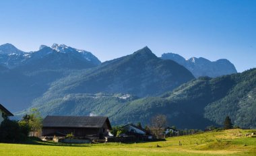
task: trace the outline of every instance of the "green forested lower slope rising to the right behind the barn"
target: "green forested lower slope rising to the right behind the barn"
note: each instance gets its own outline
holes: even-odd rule
[[[152,116],[165,114],[169,125],[201,129],[220,126],[230,116],[236,126],[256,128],[256,69],[217,78],[200,77],[157,97],[66,93],[46,100],[49,94],[44,95],[32,106],[44,116],[108,116],[112,124],[118,125],[150,124]]]

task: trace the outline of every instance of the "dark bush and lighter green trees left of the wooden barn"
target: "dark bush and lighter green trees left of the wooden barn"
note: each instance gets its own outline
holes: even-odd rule
[[[22,120],[15,121],[6,118],[0,125],[0,142],[17,143],[24,141],[35,132],[40,132],[42,118],[36,109],[30,110],[30,114],[22,117]]]

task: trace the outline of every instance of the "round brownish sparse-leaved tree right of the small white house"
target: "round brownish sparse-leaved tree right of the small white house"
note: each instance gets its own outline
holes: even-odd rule
[[[156,135],[156,138],[160,138],[161,134],[164,132],[164,126],[166,126],[167,120],[166,116],[163,114],[158,114],[151,119],[151,132]]]

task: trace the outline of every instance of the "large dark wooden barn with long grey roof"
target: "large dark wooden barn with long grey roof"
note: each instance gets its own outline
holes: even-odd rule
[[[65,137],[103,139],[111,129],[106,116],[46,116],[42,121],[43,137]]]

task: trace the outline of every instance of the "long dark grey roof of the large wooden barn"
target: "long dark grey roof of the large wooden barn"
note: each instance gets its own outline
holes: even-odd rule
[[[46,116],[43,127],[102,128],[104,123],[111,129],[106,116]]]

